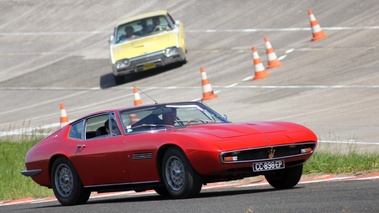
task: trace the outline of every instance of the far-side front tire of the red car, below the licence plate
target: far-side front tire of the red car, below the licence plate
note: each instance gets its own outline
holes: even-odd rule
[[[296,186],[303,173],[303,165],[286,168],[265,175],[267,182],[275,189],[290,189]]]

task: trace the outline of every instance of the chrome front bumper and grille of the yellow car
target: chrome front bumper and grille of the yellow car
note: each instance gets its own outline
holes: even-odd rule
[[[160,50],[129,59],[129,66],[125,68],[118,68],[116,64],[112,64],[112,71],[115,76],[121,76],[146,71],[156,67],[163,67],[177,62],[184,62],[185,60],[186,55],[182,48],[178,48],[178,52],[170,56],[165,54],[165,50]]]

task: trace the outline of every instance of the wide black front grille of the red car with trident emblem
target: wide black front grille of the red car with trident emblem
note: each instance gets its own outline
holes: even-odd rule
[[[221,153],[221,162],[223,163],[242,163],[263,160],[274,160],[287,157],[296,157],[306,155],[309,153],[301,153],[301,149],[311,148],[314,150],[316,143],[296,143],[280,146],[260,147],[254,149],[234,150],[230,152]],[[313,151],[312,151],[313,152]],[[225,157],[237,157],[238,160],[232,162],[225,162]]]

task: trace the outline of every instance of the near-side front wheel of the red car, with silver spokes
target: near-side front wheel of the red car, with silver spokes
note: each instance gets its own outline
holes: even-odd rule
[[[198,195],[203,184],[202,177],[192,168],[184,153],[175,147],[164,154],[162,179],[168,194],[174,199]]]

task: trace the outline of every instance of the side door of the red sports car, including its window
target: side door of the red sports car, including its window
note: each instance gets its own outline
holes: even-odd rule
[[[84,186],[128,182],[124,136],[119,126],[114,113],[94,115],[78,123],[82,136],[75,140],[72,162]]]

